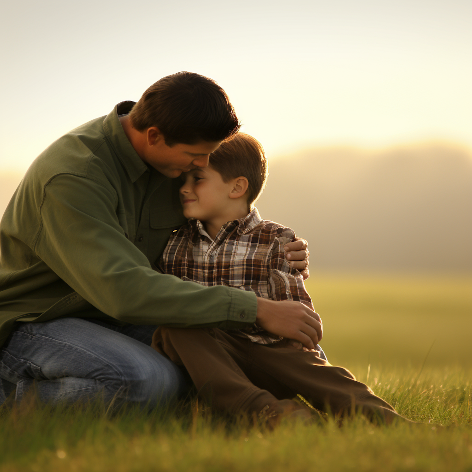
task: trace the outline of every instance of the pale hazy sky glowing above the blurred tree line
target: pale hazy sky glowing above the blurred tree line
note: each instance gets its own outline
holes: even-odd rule
[[[0,171],[190,70],[270,155],[440,139],[472,146],[470,0],[11,1]]]

